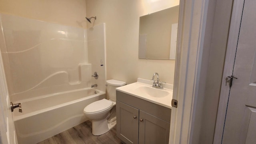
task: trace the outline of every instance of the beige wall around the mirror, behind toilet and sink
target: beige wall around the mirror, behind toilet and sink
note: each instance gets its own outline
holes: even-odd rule
[[[178,4],[170,0],[86,0],[87,16],[97,16],[94,25],[106,23],[107,79],[130,84],[137,78],[151,79],[158,72],[161,81],[173,84],[175,60],[138,59],[139,18]]]

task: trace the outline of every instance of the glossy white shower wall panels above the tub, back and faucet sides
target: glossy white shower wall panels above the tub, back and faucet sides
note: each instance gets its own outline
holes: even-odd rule
[[[86,88],[96,81],[105,90],[104,24],[87,34],[86,29],[19,16],[1,18],[1,51],[12,101]],[[91,78],[94,71],[98,80]]]

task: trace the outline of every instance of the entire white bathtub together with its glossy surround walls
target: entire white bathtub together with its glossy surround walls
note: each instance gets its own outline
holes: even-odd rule
[[[23,110],[13,113],[19,144],[40,142],[88,120],[82,109],[106,98],[105,24],[87,30],[9,14],[0,17],[8,91]],[[92,84],[98,85],[97,94],[84,90]],[[76,90],[82,91],[80,98]]]

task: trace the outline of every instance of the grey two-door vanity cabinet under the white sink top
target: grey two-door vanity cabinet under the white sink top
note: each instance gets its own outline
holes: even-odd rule
[[[116,134],[126,144],[168,144],[171,109],[116,91]]]

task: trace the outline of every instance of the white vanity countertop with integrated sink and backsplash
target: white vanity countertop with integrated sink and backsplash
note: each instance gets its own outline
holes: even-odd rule
[[[153,81],[151,80],[145,80],[142,78],[138,78],[137,82],[134,82],[132,84],[128,84],[125,86],[121,86],[116,88],[116,90],[120,92],[124,92],[126,94],[130,94],[132,96],[135,96],[137,98],[141,98],[143,100],[147,100],[149,102],[167,107],[172,108],[172,93],[173,93],[173,85],[172,84],[163,84],[164,89],[160,90],[157,88],[152,88]],[[139,88],[152,88],[154,92],[156,92],[155,96],[150,96],[152,94],[147,94],[147,92],[143,92],[141,90],[138,90]],[[163,97],[161,95],[158,96],[158,94],[166,94]]]

